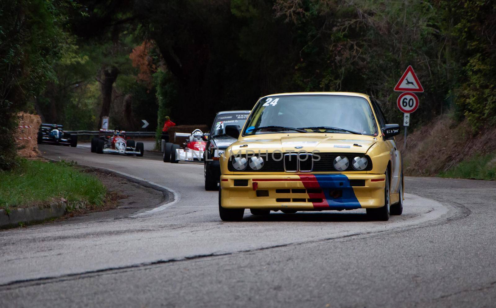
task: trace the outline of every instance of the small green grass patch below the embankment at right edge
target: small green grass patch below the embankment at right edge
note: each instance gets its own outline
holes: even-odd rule
[[[475,155],[440,172],[439,177],[474,180],[496,180],[496,154]]]

